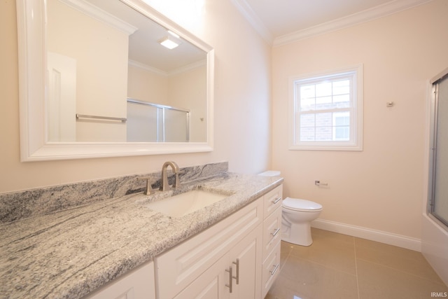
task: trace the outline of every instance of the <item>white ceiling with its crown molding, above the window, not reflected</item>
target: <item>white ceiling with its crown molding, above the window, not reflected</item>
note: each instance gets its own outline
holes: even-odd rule
[[[381,18],[430,0],[232,0],[274,46]]]

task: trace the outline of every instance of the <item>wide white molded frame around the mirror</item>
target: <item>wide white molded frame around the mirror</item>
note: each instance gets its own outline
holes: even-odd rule
[[[213,151],[214,49],[140,0],[120,0],[207,52],[207,142],[48,142],[45,0],[18,0],[20,160],[68,160]]]

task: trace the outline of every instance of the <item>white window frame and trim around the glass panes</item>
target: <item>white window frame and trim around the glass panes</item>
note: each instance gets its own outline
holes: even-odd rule
[[[350,139],[348,141],[300,141],[300,99],[297,97],[297,86],[304,83],[331,81],[349,76],[351,79]],[[333,69],[315,74],[304,74],[289,78],[289,149],[314,151],[363,151],[363,64],[342,69]],[[330,111],[330,110],[329,110]],[[338,109],[331,109],[337,112]],[[316,110],[316,113],[322,111]]]

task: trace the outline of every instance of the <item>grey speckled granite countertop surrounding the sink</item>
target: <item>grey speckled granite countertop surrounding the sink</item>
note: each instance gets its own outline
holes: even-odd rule
[[[180,218],[146,205],[178,190],[135,193],[0,225],[0,298],[81,298],[153,260],[282,183],[225,173],[181,186],[229,195]]]

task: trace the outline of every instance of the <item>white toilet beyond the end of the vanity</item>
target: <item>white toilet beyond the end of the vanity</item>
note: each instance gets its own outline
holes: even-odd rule
[[[269,170],[260,175],[279,176],[280,172]],[[321,211],[321,204],[286,197],[281,203],[281,239],[301,246],[311,245],[311,221],[318,218]]]

